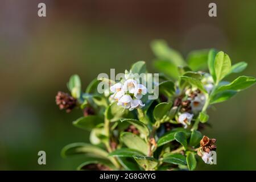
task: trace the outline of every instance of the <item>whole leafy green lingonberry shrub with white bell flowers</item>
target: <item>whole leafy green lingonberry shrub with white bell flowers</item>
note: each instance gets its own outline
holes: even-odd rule
[[[151,47],[160,72],[157,81],[138,61],[121,79],[95,79],[85,92],[79,76],[73,75],[68,82],[71,94],[57,93],[60,109],[82,110],[73,125],[90,132],[90,144],[68,144],[61,152],[64,157],[84,155],[78,169],[193,170],[197,160],[214,164],[216,139],[201,134],[209,119],[207,110],[249,88],[255,78],[224,81],[247,64],[232,65],[222,51],[193,51],[184,61],[163,40],[155,40]],[[104,92],[99,92],[102,83]],[[156,90],[158,97],[149,99]]]

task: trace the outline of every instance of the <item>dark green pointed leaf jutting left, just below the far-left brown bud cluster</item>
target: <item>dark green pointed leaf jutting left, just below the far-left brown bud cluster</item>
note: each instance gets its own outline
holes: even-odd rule
[[[97,115],[88,115],[86,117],[81,117],[76,121],[73,121],[73,125],[79,127],[80,129],[84,129],[86,131],[92,130],[99,123],[103,123],[104,119]]]

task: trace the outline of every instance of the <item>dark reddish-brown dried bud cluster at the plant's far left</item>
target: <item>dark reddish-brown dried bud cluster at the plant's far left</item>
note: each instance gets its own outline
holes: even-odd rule
[[[59,108],[61,110],[65,109],[67,113],[76,107],[76,99],[69,96],[68,93],[58,92],[55,100]]]

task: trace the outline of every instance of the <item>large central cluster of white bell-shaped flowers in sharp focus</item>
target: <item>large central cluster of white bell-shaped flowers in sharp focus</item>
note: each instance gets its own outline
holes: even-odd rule
[[[117,101],[117,105],[122,106],[124,109],[134,110],[145,106],[141,101],[141,98],[147,94],[146,86],[138,84],[138,82],[132,78],[122,82],[118,82],[110,87],[110,92],[113,94],[110,98]]]

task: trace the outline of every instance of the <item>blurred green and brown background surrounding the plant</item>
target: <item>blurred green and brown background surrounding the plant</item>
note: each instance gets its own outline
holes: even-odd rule
[[[38,3],[47,17],[37,15]],[[217,17],[208,16],[210,2]],[[57,91],[67,91],[73,73],[83,89],[98,73],[123,72],[137,60],[152,68],[153,39],[166,39],[184,57],[189,51],[217,48],[233,61],[249,63],[256,76],[256,2],[88,0],[14,1],[0,6],[0,169],[73,170],[82,156],[63,159],[60,150],[88,141],[72,126],[80,111],[66,114],[55,105]],[[230,77],[232,80],[232,77]],[[217,165],[197,169],[256,169],[256,86],[210,110],[217,138]],[[38,165],[38,151],[47,165]]]

